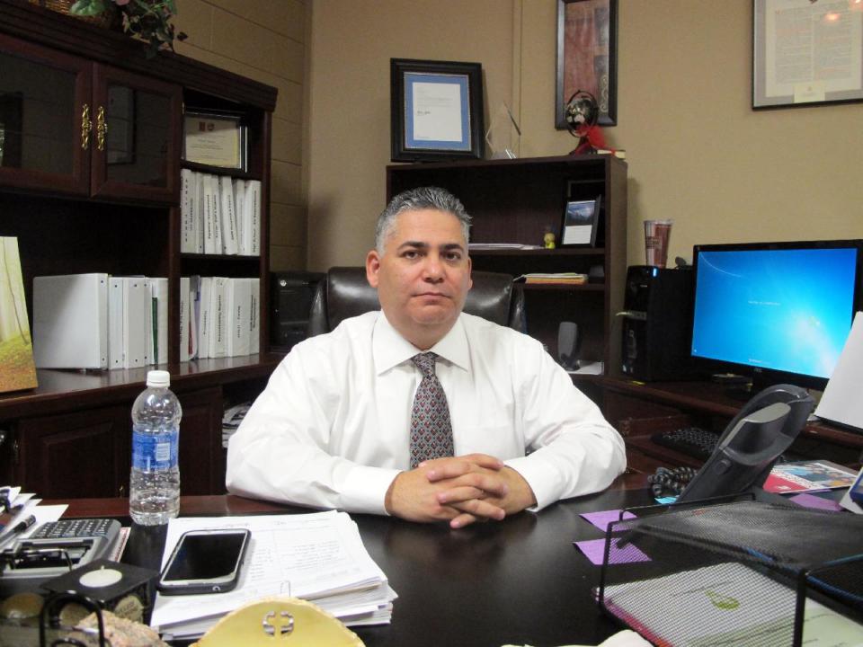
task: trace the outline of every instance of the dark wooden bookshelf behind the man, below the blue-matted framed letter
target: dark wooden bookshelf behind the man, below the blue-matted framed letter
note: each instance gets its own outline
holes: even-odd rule
[[[450,164],[387,166],[387,199],[419,186],[440,186],[473,216],[471,243],[542,245],[550,229],[558,236],[567,199],[601,203],[595,246],[557,249],[471,250],[476,270],[592,273],[580,286],[523,285],[528,333],[557,356],[557,330],[576,323],[577,357],[618,367],[620,344],[612,335],[623,309],[627,270],[627,164],[611,155],[567,155]]]

